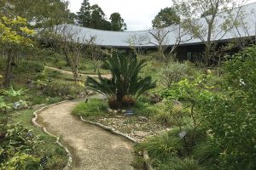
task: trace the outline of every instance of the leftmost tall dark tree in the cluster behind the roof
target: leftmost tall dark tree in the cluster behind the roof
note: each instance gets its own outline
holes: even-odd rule
[[[79,26],[90,27],[90,18],[90,3],[84,0],[77,15]]]

